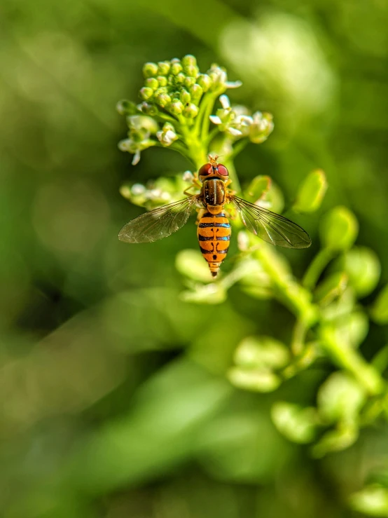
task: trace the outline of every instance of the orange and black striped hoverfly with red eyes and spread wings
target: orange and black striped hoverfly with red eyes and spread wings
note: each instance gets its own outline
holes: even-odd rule
[[[193,186],[200,187],[199,194],[141,214],[123,226],[118,238],[125,243],[151,243],[165,238],[179,230],[197,209],[200,250],[212,276],[216,277],[230,243],[230,216],[225,210],[225,205],[230,203],[240,213],[247,229],[268,243],[285,248],[307,248],[311,245],[307,232],[296,223],[235,196],[228,189],[231,183],[228,169],[218,163],[217,158],[209,156],[209,163],[202,165],[198,171],[199,179],[195,175]],[[189,195],[193,186],[184,193]]]

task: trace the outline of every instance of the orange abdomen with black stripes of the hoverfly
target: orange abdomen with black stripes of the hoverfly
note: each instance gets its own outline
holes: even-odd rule
[[[218,214],[206,212],[198,223],[200,250],[209,263],[213,277],[217,275],[223,259],[226,258],[231,233],[229,220],[222,209]]]

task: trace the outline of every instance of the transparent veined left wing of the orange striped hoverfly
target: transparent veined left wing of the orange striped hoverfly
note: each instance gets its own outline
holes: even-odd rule
[[[151,243],[166,238],[186,223],[197,200],[198,196],[190,196],[141,214],[123,226],[118,238],[125,243]]]

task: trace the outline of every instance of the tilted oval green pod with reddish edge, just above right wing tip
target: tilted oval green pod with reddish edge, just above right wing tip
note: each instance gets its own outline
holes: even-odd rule
[[[314,212],[321,206],[327,190],[327,180],[321,169],[310,172],[310,175],[300,184],[296,201],[293,204],[295,212]]]

